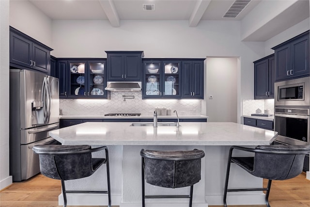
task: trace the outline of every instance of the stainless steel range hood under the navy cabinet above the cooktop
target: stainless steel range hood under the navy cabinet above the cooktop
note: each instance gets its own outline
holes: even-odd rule
[[[108,81],[107,91],[141,91],[141,82],[128,82],[128,81]]]

